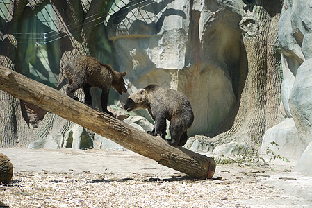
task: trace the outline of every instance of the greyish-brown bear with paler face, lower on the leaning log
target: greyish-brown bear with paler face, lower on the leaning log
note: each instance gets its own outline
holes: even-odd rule
[[[192,107],[186,95],[160,85],[148,85],[131,94],[124,105],[127,111],[139,108],[147,109],[155,121],[154,129],[147,133],[154,136],[161,135],[165,139],[167,119],[170,121],[171,135],[168,143],[172,146],[186,144],[188,139],[186,130],[194,121]]]

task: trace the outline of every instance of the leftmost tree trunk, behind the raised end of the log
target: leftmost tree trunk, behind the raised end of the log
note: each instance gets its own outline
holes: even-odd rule
[[[8,15],[3,27],[2,44],[0,47],[0,64],[15,71],[17,44],[15,34],[19,32],[21,21],[24,18],[24,9],[27,1],[15,1],[7,5]],[[40,5],[44,2],[40,1]],[[29,8],[33,12],[37,7]],[[22,116],[22,107],[18,99],[6,92],[0,92],[0,148],[13,147],[17,144],[26,146],[31,141],[38,139],[29,129]]]

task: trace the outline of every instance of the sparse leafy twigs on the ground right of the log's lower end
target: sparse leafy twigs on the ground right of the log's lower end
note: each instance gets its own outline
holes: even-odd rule
[[[245,147],[245,146],[237,146],[236,154],[233,155],[233,158],[220,155],[219,157],[213,157],[217,165],[220,164],[240,164],[244,166],[269,166],[273,160],[281,159],[282,161],[289,162],[288,159],[282,157],[281,155],[275,155],[274,151],[269,146],[275,146],[277,150],[279,150],[279,144],[277,142],[272,141],[264,150],[263,153],[259,153],[258,146],[257,147]],[[264,159],[263,155],[269,156],[270,159]]]

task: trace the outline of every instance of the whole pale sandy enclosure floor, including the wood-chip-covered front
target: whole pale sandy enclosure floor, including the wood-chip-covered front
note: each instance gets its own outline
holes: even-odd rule
[[[212,180],[194,180],[129,150],[0,153],[14,166],[0,186],[9,207],[312,207],[312,175],[291,172],[292,162],[222,165]]]

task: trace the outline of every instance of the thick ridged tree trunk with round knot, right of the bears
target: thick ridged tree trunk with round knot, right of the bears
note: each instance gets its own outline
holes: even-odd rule
[[[202,146],[237,141],[247,146],[260,144],[265,130],[280,122],[281,56],[277,54],[277,33],[283,2],[250,3],[240,21],[243,32],[238,103],[213,137],[195,136]],[[230,126],[229,126],[230,125]]]

